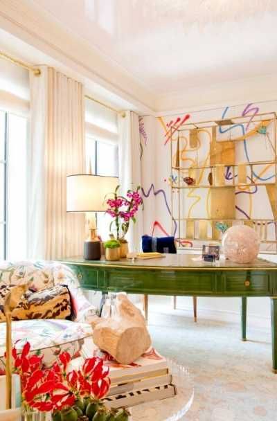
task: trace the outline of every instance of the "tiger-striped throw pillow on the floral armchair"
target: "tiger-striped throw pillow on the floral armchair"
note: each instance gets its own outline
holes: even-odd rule
[[[6,321],[3,304],[10,287],[0,287],[0,322]],[[69,289],[65,285],[56,285],[39,292],[28,290],[12,312],[12,320],[26,319],[71,319]]]

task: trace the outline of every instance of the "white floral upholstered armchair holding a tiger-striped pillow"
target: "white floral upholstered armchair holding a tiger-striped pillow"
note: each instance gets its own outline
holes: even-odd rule
[[[65,350],[71,357],[78,357],[84,339],[92,334],[91,325],[86,321],[96,314],[96,308],[85,298],[78,278],[69,267],[58,262],[0,262],[0,373],[5,368],[5,291],[25,283],[28,283],[29,301],[25,300],[15,309],[16,316],[15,310],[12,312],[12,342],[18,350],[28,341],[32,352],[44,354],[44,361],[51,365]],[[55,295],[59,288],[62,288],[62,299],[57,303]],[[67,301],[66,296],[70,297]],[[64,319],[64,315],[69,314],[68,307],[70,316]]]

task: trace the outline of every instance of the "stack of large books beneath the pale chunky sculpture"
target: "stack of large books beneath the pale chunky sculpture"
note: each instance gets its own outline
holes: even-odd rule
[[[88,354],[83,348],[82,353],[83,357],[91,357],[91,349]],[[94,348],[93,356],[102,357],[109,366],[111,387],[104,400],[109,408],[135,406],[177,395],[166,358],[154,348],[129,365],[119,364],[98,348]]]

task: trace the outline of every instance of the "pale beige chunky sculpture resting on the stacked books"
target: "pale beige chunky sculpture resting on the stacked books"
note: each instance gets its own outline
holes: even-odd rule
[[[118,363],[130,364],[151,345],[145,319],[125,293],[116,295],[111,316],[91,321],[93,342]]]

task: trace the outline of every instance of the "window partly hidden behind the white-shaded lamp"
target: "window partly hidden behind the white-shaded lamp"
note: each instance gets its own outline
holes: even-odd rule
[[[86,138],[87,168],[91,174],[118,177],[118,145],[97,141],[91,136]],[[102,240],[109,238],[111,217],[105,213],[97,214],[98,235]]]

